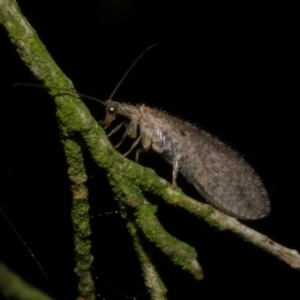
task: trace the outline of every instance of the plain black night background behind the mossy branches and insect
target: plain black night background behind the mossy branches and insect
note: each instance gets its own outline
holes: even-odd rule
[[[209,3],[19,1],[57,64],[78,91],[91,96],[107,98],[138,54],[158,43],[115,100],[161,108],[243,153],[272,203],[270,216],[247,225],[300,250],[298,7],[283,1]],[[1,214],[0,260],[57,299],[75,299],[71,197],[55,107],[44,90],[12,88],[37,81],[3,27],[0,54],[0,205],[49,279]],[[86,104],[96,119],[103,118],[100,104]],[[91,219],[99,299],[148,299],[125,222],[109,214],[118,208],[105,172],[85,157],[91,214],[102,214]],[[171,167],[159,155],[144,154],[140,163],[171,180]],[[179,186],[199,199],[183,178]],[[197,282],[151,247],[168,299],[299,297],[299,272],[233,234],[152,201],[164,227],[196,248],[204,268],[205,279]]]

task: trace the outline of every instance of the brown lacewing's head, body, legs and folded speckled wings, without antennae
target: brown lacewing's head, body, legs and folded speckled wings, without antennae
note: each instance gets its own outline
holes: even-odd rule
[[[244,220],[259,219],[269,213],[269,198],[258,175],[238,153],[216,137],[144,105],[135,107],[113,100],[99,102],[106,106],[106,127],[118,114],[130,120],[123,139],[129,135],[136,141],[125,155],[141,141],[144,150],[152,147],[172,164],[174,185],[180,171],[220,211]],[[137,126],[140,127],[138,137]]]

